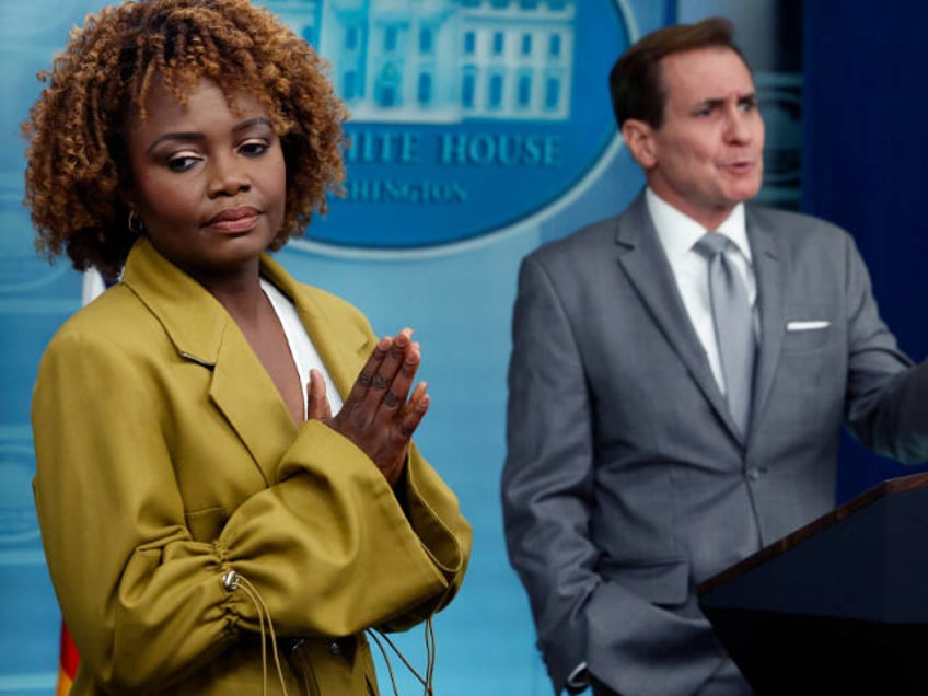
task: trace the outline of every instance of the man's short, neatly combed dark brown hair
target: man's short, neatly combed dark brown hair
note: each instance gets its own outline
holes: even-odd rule
[[[660,128],[666,104],[661,60],[673,54],[712,47],[731,49],[744,60],[733,36],[732,23],[714,16],[696,24],[664,26],[638,39],[610,72],[610,94],[618,127],[622,128],[626,119],[636,118]]]

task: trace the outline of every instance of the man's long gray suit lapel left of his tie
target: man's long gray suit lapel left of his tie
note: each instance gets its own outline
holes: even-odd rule
[[[741,440],[738,427],[728,410],[728,403],[712,376],[706,351],[680,298],[670,263],[648,214],[643,193],[618,219],[616,243],[619,247],[618,264],[641,298],[642,304],[716,414],[732,436]]]

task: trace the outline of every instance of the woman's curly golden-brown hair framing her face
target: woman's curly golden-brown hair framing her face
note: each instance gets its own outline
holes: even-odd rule
[[[147,0],[89,15],[23,125],[28,139],[25,205],[36,250],[67,252],[74,268],[114,277],[138,237],[120,192],[130,183],[126,128],[144,118],[154,80],[182,104],[200,78],[227,101],[254,94],[280,137],[287,165],[283,222],[271,250],[303,233],[345,179],[348,114],[327,63],[269,11],[248,0]]]

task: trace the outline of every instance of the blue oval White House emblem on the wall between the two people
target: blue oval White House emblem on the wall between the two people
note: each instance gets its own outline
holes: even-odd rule
[[[265,4],[332,63],[351,109],[347,196],[313,221],[314,242],[401,250],[492,232],[562,196],[615,137],[620,3]]]

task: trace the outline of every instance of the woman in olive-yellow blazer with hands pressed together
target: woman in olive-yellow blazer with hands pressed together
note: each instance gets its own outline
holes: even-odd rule
[[[25,125],[39,251],[119,276],[33,402],[76,696],[376,694],[366,629],[463,579],[469,526],[410,442],[411,332],[378,340],[265,253],[344,177],[322,68],[246,0],[126,3],[72,34]]]

